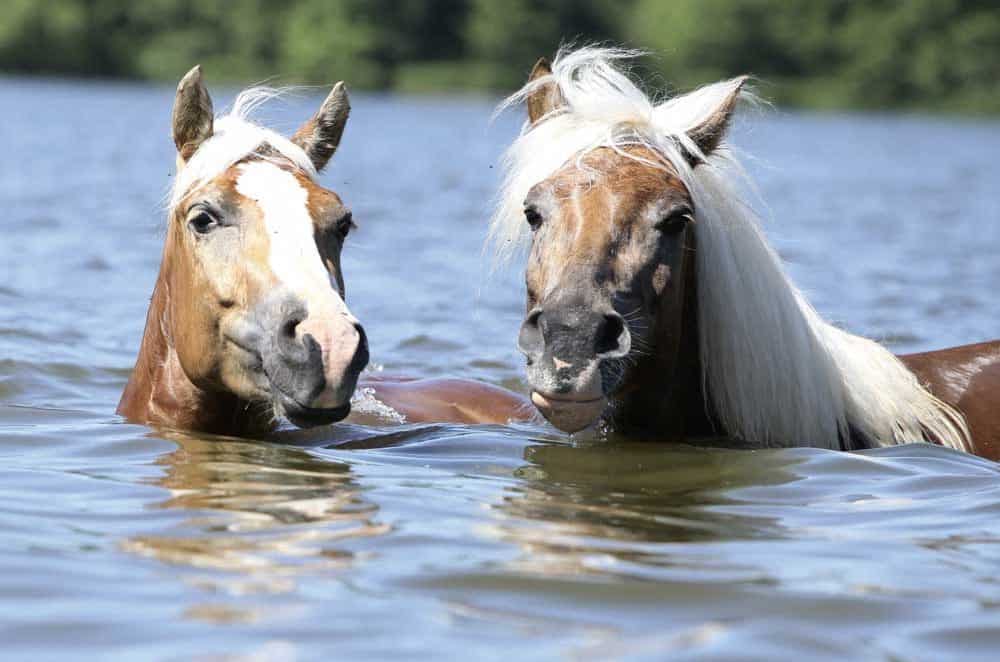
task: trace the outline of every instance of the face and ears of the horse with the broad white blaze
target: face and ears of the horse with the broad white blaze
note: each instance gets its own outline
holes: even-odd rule
[[[198,134],[206,131],[187,139],[202,118],[198,108],[182,107],[185,82],[174,130],[186,168],[197,167]],[[316,170],[332,155],[346,118],[338,85],[293,137]],[[352,225],[336,193],[268,144],[177,201],[164,261],[174,347],[187,377],[272,403],[300,426],[346,416],[368,362],[364,331],[343,298],[340,253]]]

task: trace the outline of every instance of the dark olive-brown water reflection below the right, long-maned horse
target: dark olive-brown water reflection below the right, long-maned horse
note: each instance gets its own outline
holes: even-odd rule
[[[742,453],[620,440],[525,449],[521,484],[497,506],[495,534],[516,543],[521,571],[648,575],[677,570],[690,579],[706,559],[688,543],[782,538],[776,517],[732,512],[733,490],[800,479],[799,461],[767,451]],[[718,578],[759,581],[759,571],[716,565]]]

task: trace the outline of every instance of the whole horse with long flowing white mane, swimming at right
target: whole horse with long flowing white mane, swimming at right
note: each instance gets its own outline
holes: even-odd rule
[[[748,446],[930,441],[1000,456],[1000,341],[894,356],[824,321],[734,180],[746,78],[654,102],[594,47],[540,60],[501,109],[491,236],[530,244],[518,345],[556,427],[726,435]]]

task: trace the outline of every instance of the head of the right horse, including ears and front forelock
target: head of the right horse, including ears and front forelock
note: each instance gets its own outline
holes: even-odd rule
[[[612,88],[621,75],[599,73]],[[513,222],[511,196],[526,191],[527,315],[518,347],[532,400],[556,427],[575,432],[597,421],[633,388],[639,357],[653,357],[664,376],[674,369],[698,218],[681,170],[721,146],[743,81],[720,84],[676,138],[637,128],[649,118],[631,114],[655,107],[623,107],[617,96],[617,107],[602,108],[599,89],[561,86],[545,60],[512,98],[526,102],[529,121],[508,153],[494,231]]]

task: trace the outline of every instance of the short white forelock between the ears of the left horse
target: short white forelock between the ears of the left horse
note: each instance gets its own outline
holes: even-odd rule
[[[171,211],[188,193],[254,154],[265,143],[310,177],[316,177],[316,168],[302,148],[249,119],[254,110],[281,94],[280,90],[269,87],[252,87],[240,92],[232,109],[215,119],[212,136],[199,145],[177,173],[168,201]]]

